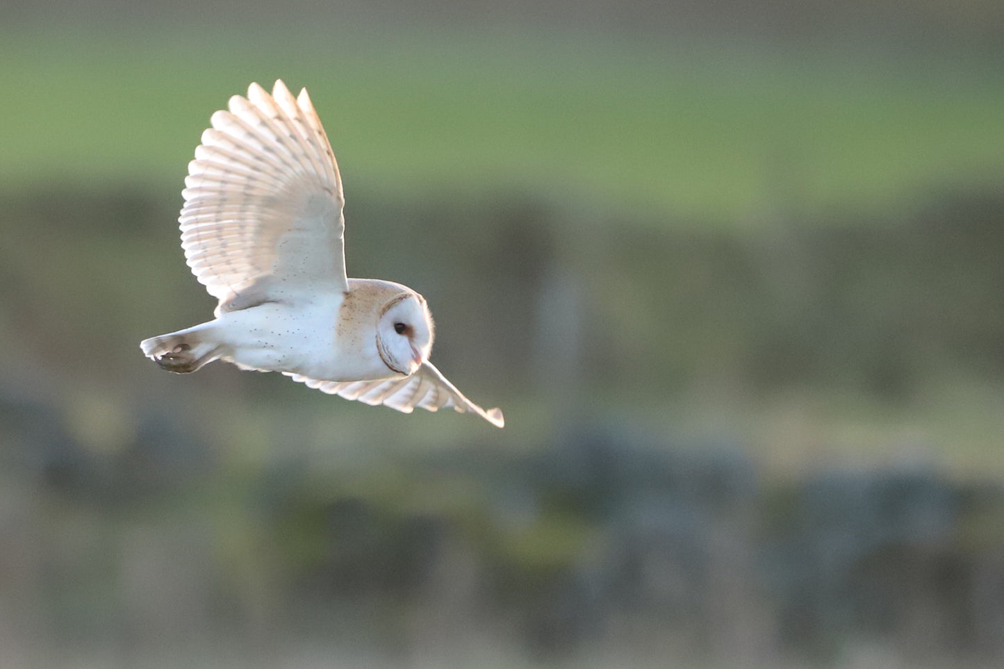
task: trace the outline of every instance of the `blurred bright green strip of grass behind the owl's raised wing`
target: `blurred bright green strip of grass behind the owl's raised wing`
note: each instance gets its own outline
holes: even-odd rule
[[[212,112],[277,76],[311,90],[349,199],[521,189],[755,222],[1004,180],[989,61],[375,27],[0,37],[5,190],[180,190]]]

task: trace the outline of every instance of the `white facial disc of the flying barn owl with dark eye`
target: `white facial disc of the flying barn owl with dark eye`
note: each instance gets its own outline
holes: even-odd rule
[[[433,336],[433,316],[419,293],[401,293],[381,309],[376,350],[395,372],[409,376],[422,367],[432,353]]]

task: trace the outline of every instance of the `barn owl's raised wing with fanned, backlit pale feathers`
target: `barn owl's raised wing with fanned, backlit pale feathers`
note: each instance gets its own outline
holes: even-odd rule
[[[348,290],[344,195],[334,154],[304,88],[275,82],[230,98],[189,164],[182,248],[221,309],[301,286]],[[238,300],[240,301],[240,300]]]

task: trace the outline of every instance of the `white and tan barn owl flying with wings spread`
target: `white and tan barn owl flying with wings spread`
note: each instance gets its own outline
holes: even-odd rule
[[[338,165],[306,89],[252,83],[212,117],[185,179],[179,222],[215,318],[141,343],[165,370],[214,360],[281,372],[324,393],[411,413],[451,407],[502,427],[429,362],[425,297],[345,275]]]

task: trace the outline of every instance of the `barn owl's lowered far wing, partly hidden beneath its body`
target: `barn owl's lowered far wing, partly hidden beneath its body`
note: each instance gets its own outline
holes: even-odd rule
[[[409,377],[376,381],[317,381],[299,374],[283,374],[328,395],[340,395],[346,400],[358,400],[370,405],[383,404],[406,414],[412,413],[415,407],[429,411],[452,408],[462,414],[472,411],[497,427],[505,425],[500,409],[485,411],[474,404],[428,362]]]

